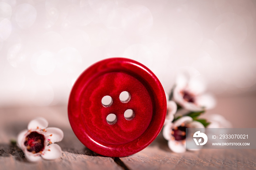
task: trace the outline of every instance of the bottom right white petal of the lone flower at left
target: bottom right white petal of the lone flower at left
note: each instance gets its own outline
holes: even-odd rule
[[[50,151],[48,151],[48,149]],[[62,154],[61,147],[57,144],[50,144],[45,148],[44,154],[41,155],[44,159],[56,159],[59,158]]]

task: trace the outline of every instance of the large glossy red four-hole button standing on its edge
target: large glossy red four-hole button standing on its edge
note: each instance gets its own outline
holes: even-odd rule
[[[105,59],[75,82],[68,117],[75,135],[90,150],[125,157],[157,137],[166,117],[166,97],[146,66],[127,58]]]

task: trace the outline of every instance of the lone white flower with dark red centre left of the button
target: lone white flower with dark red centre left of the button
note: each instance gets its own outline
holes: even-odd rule
[[[63,139],[63,131],[59,128],[48,127],[48,121],[42,117],[31,120],[27,130],[19,133],[17,145],[25,153],[28,161],[35,162],[42,158],[56,159],[61,156],[59,145],[52,144]]]

